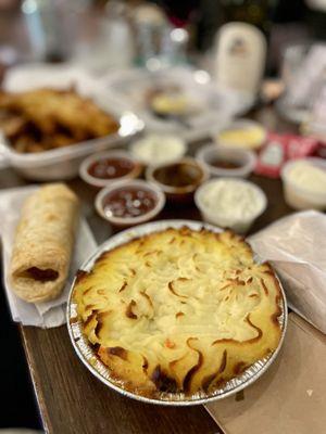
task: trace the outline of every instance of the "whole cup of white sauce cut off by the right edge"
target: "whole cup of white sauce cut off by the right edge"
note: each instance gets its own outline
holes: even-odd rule
[[[314,167],[321,169],[325,176],[319,170],[315,173]],[[310,157],[288,162],[280,176],[285,200],[289,206],[294,209],[326,209],[325,159]]]

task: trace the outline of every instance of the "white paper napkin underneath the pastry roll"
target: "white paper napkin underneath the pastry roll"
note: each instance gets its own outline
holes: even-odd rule
[[[66,299],[75,272],[84,260],[95,251],[97,243],[86,220],[80,218],[70,273],[61,296],[51,302],[35,304],[26,303],[18,298],[12,292],[9,283],[11,251],[23,203],[26,197],[38,188],[37,186],[29,186],[2,190],[0,192],[0,235],[2,240],[3,283],[13,320],[22,322],[24,326],[36,326],[48,329],[65,323]]]

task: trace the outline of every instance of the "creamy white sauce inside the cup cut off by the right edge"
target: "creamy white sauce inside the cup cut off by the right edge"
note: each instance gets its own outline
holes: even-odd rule
[[[314,193],[326,192],[326,170],[309,162],[298,162],[289,170],[288,179],[305,190]]]

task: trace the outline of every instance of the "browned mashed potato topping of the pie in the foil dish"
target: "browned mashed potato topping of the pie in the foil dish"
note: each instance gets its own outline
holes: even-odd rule
[[[230,231],[183,228],[103,253],[79,271],[84,333],[136,394],[212,393],[278,345],[280,289]]]

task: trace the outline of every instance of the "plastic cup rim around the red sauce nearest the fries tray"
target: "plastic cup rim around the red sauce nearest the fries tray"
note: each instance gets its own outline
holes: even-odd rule
[[[110,178],[110,179],[101,179],[93,177],[89,174],[88,169],[91,164],[99,162],[103,158],[126,158],[134,163],[135,167],[126,175],[118,178]],[[129,153],[124,151],[106,151],[100,152],[97,154],[92,154],[84,159],[84,162],[79,166],[79,176],[80,178],[87,182],[88,184],[96,188],[103,188],[110,186],[112,182],[116,182],[125,179],[135,179],[141,174],[142,167],[141,164],[135,159]]]

